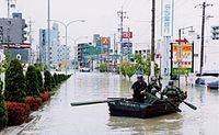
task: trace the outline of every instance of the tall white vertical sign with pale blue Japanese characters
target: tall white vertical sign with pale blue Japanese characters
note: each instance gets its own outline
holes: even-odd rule
[[[161,35],[173,35],[173,0],[162,0],[161,5]]]

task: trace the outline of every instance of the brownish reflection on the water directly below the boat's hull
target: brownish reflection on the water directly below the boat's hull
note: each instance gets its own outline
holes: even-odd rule
[[[114,132],[131,132],[134,134],[178,134],[183,125],[183,116],[174,113],[152,119],[129,119],[111,116],[107,125]]]

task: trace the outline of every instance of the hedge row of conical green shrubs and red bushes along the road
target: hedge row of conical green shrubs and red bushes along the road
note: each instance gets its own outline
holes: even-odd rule
[[[5,75],[4,82],[0,80],[0,131],[28,122],[30,114],[42,108],[57,87],[70,77],[51,75],[43,67],[41,64],[30,65],[24,72],[18,59],[7,57],[0,63],[0,72]]]

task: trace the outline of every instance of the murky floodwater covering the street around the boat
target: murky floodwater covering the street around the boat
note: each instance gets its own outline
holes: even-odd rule
[[[135,78],[132,78],[132,81]],[[71,102],[105,100],[108,97],[130,97],[132,81],[119,75],[77,72],[44,108],[33,115],[37,120],[21,135],[216,135],[219,125],[218,90],[185,87],[187,102],[181,113],[131,119],[111,116],[106,103],[71,106]]]

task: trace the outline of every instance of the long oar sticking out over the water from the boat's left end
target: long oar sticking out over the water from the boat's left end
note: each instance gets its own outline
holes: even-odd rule
[[[84,102],[73,102],[70,103],[72,106],[78,106],[78,105],[90,105],[90,104],[97,104],[97,103],[106,103],[110,101],[117,101],[117,100],[124,100],[127,98],[107,98],[107,100],[95,100],[95,101],[84,101]]]

